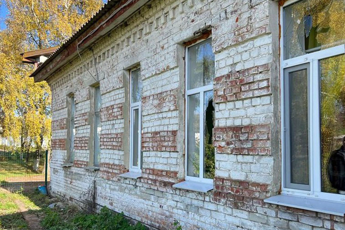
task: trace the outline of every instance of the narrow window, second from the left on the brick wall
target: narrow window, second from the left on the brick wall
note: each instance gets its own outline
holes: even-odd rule
[[[95,87],[95,97],[94,97],[94,109],[95,109],[95,114],[94,114],[94,125],[95,125],[95,133],[94,133],[94,138],[95,138],[95,146],[94,146],[94,155],[93,155],[93,165],[94,166],[99,166],[100,162],[100,134],[102,131],[102,126],[101,126],[101,119],[100,119],[100,110],[101,110],[101,92],[99,89],[99,86]]]

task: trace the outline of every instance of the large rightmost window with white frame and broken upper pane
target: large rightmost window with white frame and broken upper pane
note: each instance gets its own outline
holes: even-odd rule
[[[345,2],[288,1],[282,15],[282,193],[342,201]]]

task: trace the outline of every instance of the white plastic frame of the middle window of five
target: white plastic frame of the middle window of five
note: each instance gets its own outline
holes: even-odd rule
[[[131,172],[141,172],[141,98],[137,102],[132,102],[132,72],[140,70],[140,67],[133,68],[129,71],[129,100],[130,100],[130,145],[129,145],[129,171]],[[140,76],[139,76],[140,77]],[[138,166],[133,164],[133,151],[134,151],[134,140],[133,140],[133,130],[134,130],[134,111],[138,110]]]

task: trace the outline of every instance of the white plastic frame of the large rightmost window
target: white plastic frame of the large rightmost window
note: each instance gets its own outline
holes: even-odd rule
[[[296,3],[299,0],[290,0],[285,2],[284,6],[280,8],[280,24],[283,25],[282,33],[284,33],[284,8],[290,4]],[[281,141],[282,141],[282,194],[290,194],[302,197],[318,198],[323,200],[344,202],[345,196],[342,194],[328,193],[321,191],[321,137],[320,137],[320,100],[319,100],[319,60],[330,58],[345,54],[345,44],[331,47],[328,49],[307,53],[291,59],[284,60],[284,34],[280,39],[280,117],[281,117]],[[302,189],[287,188],[286,187],[286,170],[285,162],[285,107],[284,107],[284,70],[291,67],[301,66],[303,64],[309,65],[309,81],[308,81],[308,125],[309,125],[309,186]],[[316,111],[316,112],[315,112]],[[304,190],[303,190],[304,189]]]

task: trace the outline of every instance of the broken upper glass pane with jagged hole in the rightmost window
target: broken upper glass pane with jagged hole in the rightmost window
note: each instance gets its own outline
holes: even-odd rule
[[[344,0],[302,0],[284,8],[284,59],[345,43]]]

